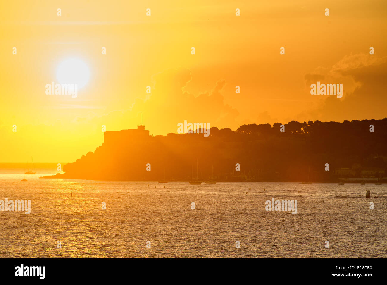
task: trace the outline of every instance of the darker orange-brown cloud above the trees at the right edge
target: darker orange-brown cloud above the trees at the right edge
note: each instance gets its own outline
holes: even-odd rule
[[[387,57],[368,54],[346,55],[330,69],[319,67],[320,72],[305,74],[305,83],[343,84],[343,98],[336,95],[322,96],[320,107],[303,112],[303,117],[324,121],[352,119],[382,119],[387,104]],[[316,81],[313,81],[314,83]],[[310,90],[310,85],[307,86]],[[316,95],[321,96],[321,95]],[[299,115],[300,116],[300,115]]]

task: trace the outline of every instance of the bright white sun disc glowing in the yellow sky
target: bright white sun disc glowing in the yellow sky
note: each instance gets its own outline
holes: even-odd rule
[[[57,68],[60,84],[77,84],[79,89],[87,84],[89,77],[89,67],[80,59],[63,60]]]

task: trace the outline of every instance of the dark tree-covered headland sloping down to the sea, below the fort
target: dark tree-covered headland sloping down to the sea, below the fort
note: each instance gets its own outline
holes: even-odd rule
[[[370,125],[374,131],[370,132]],[[176,134],[103,143],[67,164],[63,177],[95,180],[337,181],[335,168],[386,168],[387,118],[245,124],[210,135]],[[151,171],[146,171],[146,164]],[[240,171],[236,171],[236,163]],[[329,171],[325,164],[329,163]]]

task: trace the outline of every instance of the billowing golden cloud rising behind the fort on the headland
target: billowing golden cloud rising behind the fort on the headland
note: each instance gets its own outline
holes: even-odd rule
[[[144,111],[157,115],[157,120],[150,121],[148,126],[161,133],[176,132],[177,124],[184,120],[209,123],[211,127],[235,123],[239,112],[224,103],[224,79],[214,83],[212,90],[197,96],[184,90],[191,80],[190,70],[183,67],[155,74],[150,96],[146,100],[136,99],[131,109],[132,116]]]

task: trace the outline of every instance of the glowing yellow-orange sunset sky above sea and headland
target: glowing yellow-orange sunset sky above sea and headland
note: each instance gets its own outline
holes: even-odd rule
[[[153,135],[176,133],[185,120],[236,130],[247,123],[384,118],[386,6],[1,1],[0,162],[31,155],[36,162],[72,162],[103,143],[103,124],[108,131],[136,128],[141,113]],[[45,85],[58,83],[58,66],[69,58],[86,64],[87,84],[76,98],[47,95]],[[343,97],[311,95],[317,81],[343,84]]]

